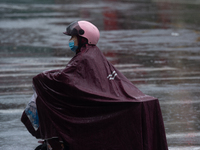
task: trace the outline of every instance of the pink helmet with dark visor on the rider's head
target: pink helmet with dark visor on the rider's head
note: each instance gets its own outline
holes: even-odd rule
[[[88,21],[75,21],[72,22],[67,28],[66,35],[79,35],[88,40],[88,44],[96,45],[99,41],[99,30],[95,25]]]

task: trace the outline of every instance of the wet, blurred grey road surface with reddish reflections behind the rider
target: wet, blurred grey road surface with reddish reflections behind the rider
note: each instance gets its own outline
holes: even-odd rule
[[[32,77],[73,57],[63,32],[87,20],[98,47],[157,97],[170,150],[200,149],[200,0],[0,0],[0,149],[33,150],[20,122]]]

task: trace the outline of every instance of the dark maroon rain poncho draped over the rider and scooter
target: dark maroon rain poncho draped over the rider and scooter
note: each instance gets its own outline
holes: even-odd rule
[[[86,45],[66,68],[33,78],[40,127],[70,150],[167,150],[158,99],[143,94],[96,46]]]

